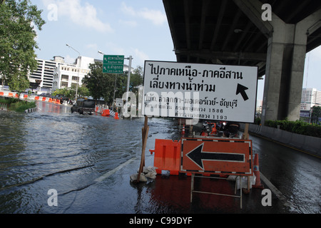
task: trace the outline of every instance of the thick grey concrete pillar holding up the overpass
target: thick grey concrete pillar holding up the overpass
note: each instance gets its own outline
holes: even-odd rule
[[[265,120],[298,120],[309,28],[321,19],[321,10],[297,24],[285,24],[272,14],[272,36],[267,46],[263,117]]]

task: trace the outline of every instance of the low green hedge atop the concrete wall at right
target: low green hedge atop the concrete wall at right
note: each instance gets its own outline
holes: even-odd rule
[[[321,138],[321,126],[314,123],[306,123],[300,120],[265,120],[264,125],[271,128],[277,128],[277,125],[279,125],[281,130]]]

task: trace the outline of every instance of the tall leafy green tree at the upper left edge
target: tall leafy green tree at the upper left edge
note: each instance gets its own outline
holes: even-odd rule
[[[34,38],[45,24],[29,0],[0,1],[0,75],[11,90],[29,88],[29,71],[37,68]]]

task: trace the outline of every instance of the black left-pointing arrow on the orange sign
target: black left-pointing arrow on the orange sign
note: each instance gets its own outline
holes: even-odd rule
[[[204,170],[203,160],[225,162],[244,162],[245,160],[243,154],[233,154],[227,152],[204,152],[203,146],[204,142],[186,154],[186,156],[195,162],[195,164],[198,165],[202,170]]]

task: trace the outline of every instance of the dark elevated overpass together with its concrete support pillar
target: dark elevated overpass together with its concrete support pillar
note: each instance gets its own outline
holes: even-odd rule
[[[299,119],[305,53],[321,43],[320,0],[163,4],[178,62],[258,66],[258,77],[265,76],[263,122]]]

